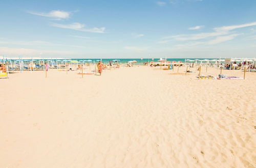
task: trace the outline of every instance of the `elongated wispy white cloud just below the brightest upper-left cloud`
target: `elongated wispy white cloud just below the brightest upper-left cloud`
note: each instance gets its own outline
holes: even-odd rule
[[[60,28],[64,28],[64,29],[72,29],[72,30],[76,30],[76,31],[82,31],[82,32],[91,32],[91,33],[104,33],[105,31],[105,27],[94,27],[92,29],[86,29],[86,25],[75,22],[72,24],[56,24],[53,23],[52,26],[54,27],[60,27]]]

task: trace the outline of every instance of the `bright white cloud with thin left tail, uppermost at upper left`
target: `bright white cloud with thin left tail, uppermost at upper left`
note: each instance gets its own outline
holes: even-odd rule
[[[68,19],[70,18],[70,14],[71,14],[70,12],[60,11],[60,10],[50,11],[48,13],[43,13],[43,12],[28,12],[28,13],[33,15],[38,15],[38,16],[50,17],[56,20]]]

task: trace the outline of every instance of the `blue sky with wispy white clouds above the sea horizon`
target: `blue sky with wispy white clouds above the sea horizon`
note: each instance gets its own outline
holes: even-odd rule
[[[256,0],[1,0],[0,56],[256,58]]]

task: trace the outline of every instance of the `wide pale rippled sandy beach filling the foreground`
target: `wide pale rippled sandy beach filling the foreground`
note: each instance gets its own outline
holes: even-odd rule
[[[0,79],[0,167],[255,167],[256,73],[199,80],[191,71]]]

